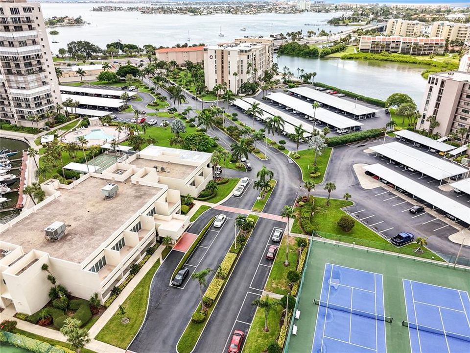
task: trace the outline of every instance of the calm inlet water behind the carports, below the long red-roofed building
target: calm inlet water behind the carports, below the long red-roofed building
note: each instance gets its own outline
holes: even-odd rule
[[[279,70],[284,66],[297,76],[297,68],[316,72],[315,81],[352,91],[364,96],[386,100],[392,93],[409,95],[420,105],[426,80],[421,65],[377,60],[341,60],[337,58],[307,59],[282,55]]]

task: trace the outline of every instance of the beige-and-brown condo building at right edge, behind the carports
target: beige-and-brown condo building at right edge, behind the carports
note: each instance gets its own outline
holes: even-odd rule
[[[431,74],[424,92],[421,119],[416,128],[427,130],[429,122],[426,119],[433,116],[439,123],[434,133],[446,136],[452,131],[457,134],[456,141],[469,143],[470,132],[462,138],[458,131],[461,128],[470,129],[470,73],[451,71]]]

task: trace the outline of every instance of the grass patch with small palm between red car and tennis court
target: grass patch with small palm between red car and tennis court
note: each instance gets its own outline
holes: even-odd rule
[[[260,307],[256,309],[248,337],[243,346],[244,352],[263,353],[272,342],[276,341],[281,331],[279,322],[281,320],[282,309],[282,306],[275,306],[269,311],[268,332],[264,331],[264,309]]]

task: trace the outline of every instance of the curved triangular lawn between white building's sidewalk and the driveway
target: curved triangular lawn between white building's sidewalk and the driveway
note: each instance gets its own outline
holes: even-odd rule
[[[125,307],[126,311],[125,316],[130,319],[129,323],[126,325],[122,324],[122,316],[119,312],[114,313],[111,319],[95,337],[97,340],[122,349],[127,348],[141,327],[147,309],[150,283],[159,267],[160,259],[155,262],[155,264],[141,279],[137,287],[131,292],[129,297],[127,297],[124,303],[122,303],[122,306]]]

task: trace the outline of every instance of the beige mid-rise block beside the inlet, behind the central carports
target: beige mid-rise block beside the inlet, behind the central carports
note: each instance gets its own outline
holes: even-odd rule
[[[239,38],[234,43],[204,48],[204,79],[209,90],[226,83],[238,93],[245,82],[255,82],[273,65],[273,38]]]

